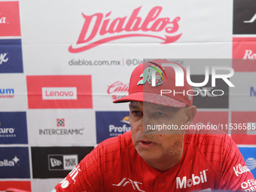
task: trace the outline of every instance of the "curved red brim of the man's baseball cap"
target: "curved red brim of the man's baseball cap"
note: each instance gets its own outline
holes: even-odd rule
[[[123,96],[120,99],[114,100],[114,103],[118,102],[151,102],[157,105],[164,105],[175,108],[184,108],[186,103],[180,102],[177,99],[173,99],[169,96],[161,96],[157,93],[132,93],[129,96]]]

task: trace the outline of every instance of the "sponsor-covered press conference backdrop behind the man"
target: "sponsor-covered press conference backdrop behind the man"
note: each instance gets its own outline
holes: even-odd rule
[[[205,66],[232,67],[235,87],[194,88],[193,123],[252,126],[255,22],[254,0],[1,1],[0,190],[50,191],[99,142],[130,130],[128,104],[112,102],[143,59],[190,66],[199,81]],[[256,176],[256,131],[227,133]]]

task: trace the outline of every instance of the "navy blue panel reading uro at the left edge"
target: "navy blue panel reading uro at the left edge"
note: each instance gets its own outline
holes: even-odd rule
[[[0,112],[0,144],[28,144],[26,112]]]

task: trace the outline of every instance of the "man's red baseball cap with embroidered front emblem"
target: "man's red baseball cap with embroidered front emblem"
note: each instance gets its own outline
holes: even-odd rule
[[[191,106],[193,89],[186,77],[186,70],[176,62],[166,59],[144,62],[131,75],[129,95],[114,100],[114,103],[136,101],[176,108]]]

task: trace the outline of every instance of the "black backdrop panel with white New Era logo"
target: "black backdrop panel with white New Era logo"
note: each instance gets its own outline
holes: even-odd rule
[[[65,178],[93,148],[32,147],[33,178]]]

